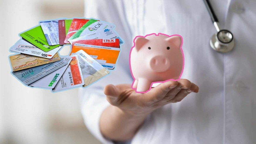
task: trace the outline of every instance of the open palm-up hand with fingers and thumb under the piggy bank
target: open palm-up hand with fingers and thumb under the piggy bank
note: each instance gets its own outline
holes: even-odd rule
[[[146,116],[159,107],[180,102],[189,93],[198,91],[199,87],[187,79],[161,83],[147,93],[136,93],[129,84],[106,85],[104,88],[110,104],[136,116]]]

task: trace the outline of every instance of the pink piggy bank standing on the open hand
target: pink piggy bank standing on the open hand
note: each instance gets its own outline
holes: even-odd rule
[[[182,42],[180,35],[162,33],[135,37],[130,51],[132,88],[145,93],[153,83],[179,80],[184,69]]]

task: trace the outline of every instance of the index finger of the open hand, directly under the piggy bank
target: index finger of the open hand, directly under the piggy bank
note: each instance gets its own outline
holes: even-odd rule
[[[146,93],[145,97],[147,98],[147,102],[154,103],[162,100],[162,98],[165,97],[165,95],[177,85],[178,82],[172,80],[157,85],[155,88],[152,88],[148,93]]]

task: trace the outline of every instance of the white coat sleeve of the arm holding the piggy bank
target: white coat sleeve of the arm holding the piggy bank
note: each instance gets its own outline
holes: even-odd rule
[[[123,29],[127,26],[126,18],[121,0],[85,0],[85,17],[97,18],[116,25],[115,30],[121,35],[123,40],[130,41],[129,29]],[[131,40],[132,42],[132,40]],[[129,69],[129,51],[131,44],[122,44],[121,54],[115,66],[115,69],[106,77],[80,91],[81,112],[89,131],[102,143],[113,143],[101,135],[99,129],[99,120],[101,113],[109,106],[103,89],[108,84],[132,83],[133,79]]]

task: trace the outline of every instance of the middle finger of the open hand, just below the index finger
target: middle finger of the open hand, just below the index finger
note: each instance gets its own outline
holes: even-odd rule
[[[187,79],[181,79],[179,80],[179,84],[177,87],[170,90],[165,97],[162,99],[163,102],[172,100],[182,89],[187,89],[191,87],[191,82]]]

